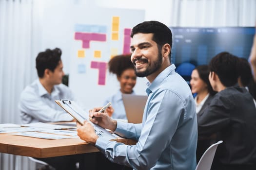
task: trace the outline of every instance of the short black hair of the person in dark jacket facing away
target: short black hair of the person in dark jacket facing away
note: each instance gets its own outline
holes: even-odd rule
[[[220,82],[230,87],[237,83],[238,57],[229,52],[220,52],[210,61],[210,71],[214,71],[220,80]]]

